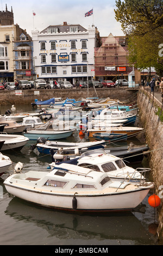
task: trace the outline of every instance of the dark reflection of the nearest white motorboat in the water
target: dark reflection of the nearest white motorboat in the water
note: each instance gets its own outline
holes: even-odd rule
[[[135,245],[153,244],[141,222],[133,213],[107,215],[78,215],[33,206],[21,199],[11,199],[5,214],[16,221],[32,222],[46,229],[49,236],[58,237],[69,244],[71,239],[83,240],[132,240]],[[41,235],[41,234],[40,234]],[[35,241],[39,243],[39,241]]]

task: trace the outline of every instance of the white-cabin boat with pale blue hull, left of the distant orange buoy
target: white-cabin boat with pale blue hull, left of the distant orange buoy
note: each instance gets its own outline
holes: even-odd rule
[[[27,132],[23,133],[25,137],[36,140],[39,137],[45,139],[54,140],[67,138],[72,135],[76,130],[75,127],[71,127],[68,122],[59,121],[58,118],[53,118],[44,125],[37,126],[35,128],[27,129]]]

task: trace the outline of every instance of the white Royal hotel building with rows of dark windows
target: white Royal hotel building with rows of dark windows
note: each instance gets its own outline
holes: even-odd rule
[[[49,26],[32,31],[36,78],[70,81],[95,76],[96,28],[80,25]]]

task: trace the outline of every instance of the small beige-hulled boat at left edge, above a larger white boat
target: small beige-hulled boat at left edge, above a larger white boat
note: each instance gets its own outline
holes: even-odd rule
[[[7,120],[4,116],[0,115],[0,124],[4,126],[4,132],[7,133],[22,133],[25,130],[25,126],[18,124],[14,120]]]

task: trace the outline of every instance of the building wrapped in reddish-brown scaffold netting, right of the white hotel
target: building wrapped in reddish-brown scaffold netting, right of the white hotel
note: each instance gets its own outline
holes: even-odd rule
[[[112,80],[127,79],[133,70],[127,61],[126,36],[101,38],[101,47],[95,48],[95,79]]]

